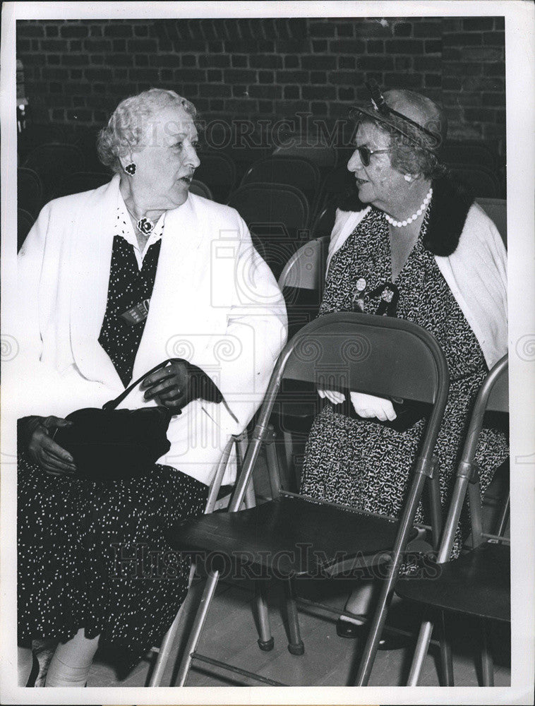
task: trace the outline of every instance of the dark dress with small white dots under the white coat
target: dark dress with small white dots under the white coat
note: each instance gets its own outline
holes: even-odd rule
[[[125,385],[143,327],[120,314],[154,286],[160,240],[138,268],[133,247],[114,238],[107,310],[99,341]],[[20,449],[18,638],[88,638],[124,649],[133,664],[158,644],[186,597],[189,562],[164,532],[203,512],[208,486],[169,466],[135,479],[52,477]]]

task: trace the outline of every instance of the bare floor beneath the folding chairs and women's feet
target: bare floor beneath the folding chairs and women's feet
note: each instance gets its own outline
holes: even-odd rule
[[[260,472],[260,477],[265,474]],[[503,493],[504,479],[496,479],[488,492],[486,523],[491,523],[498,507],[498,498]],[[259,484],[262,485],[261,483]],[[265,488],[260,489],[260,495]],[[266,491],[268,494],[268,491]],[[194,582],[191,590],[192,604],[196,606],[202,592],[203,581]],[[349,594],[349,584],[345,581],[299,582],[299,594],[303,597],[320,597],[322,602],[342,609]],[[359,662],[356,640],[339,638],[336,634],[335,619],[312,615],[300,610],[299,622],[301,637],[305,644],[302,656],[289,654],[287,633],[281,615],[282,594],[276,584],[269,592],[269,610],[272,635],[275,647],[270,652],[258,648],[255,623],[253,621],[252,586],[242,579],[239,582],[220,582],[212,604],[212,609],[200,641],[198,652],[214,659],[220,659],[241,669],[255,671],[266,678],[274,679],[289,686],[347,686],[354,683],[354,676]],[[184,649],[184,635],[187,634],[191,616],[184,619],[179,629],[171,659],[162,680],[162,686],[172,686],[176,681],[177,655]],[[388,618],[392,626],[414,633],[419,626],[420,614],[417,609],[406,603],[392,606]],[[455,686],[477,686],[479,664],[476,652],[477,626],[467,618],[450,617],[448,623],[452,639]],[[411,662],[414,645],[400,650],[378,652],[371,686],[403,686]],[[509,626],[495,626],[493,633],[493,656],[495,660],[495,685],[510,685],[510,635]],[[148,654],[129,674],[120,674],[111,659],[104,652],[97,652],[88,686],[148,686],[148,679],[155,659],[155,654]],[[23,685],[30,671],[31,654],[29,650],[19,649],[19,683]],[[191,669],[188,686],[231,686],[246,681],[237,676],[218,674],[217,668],[199,665]],[[240,681],[241,680],[241,681]],[[439,686],[438,650],[431,648],[423,666],[421,686]]]

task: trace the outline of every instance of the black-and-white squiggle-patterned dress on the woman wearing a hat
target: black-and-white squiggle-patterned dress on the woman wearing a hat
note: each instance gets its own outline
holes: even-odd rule
[[[419,239],[394,282],[399,292],[395,316],[431,331],[447,360],[450,393],[435,448],[440,463],[441,499],[445,503],[455,482],[471,405],[488,367],[433,253],[423,246],[428,217],[429,210]],[[377,313],[380,292],[392,280],[390,263],[387,222],[379,210],[371,208],[332,257],[319,316],[352,311],[359,278],[365,280],[366,292],[377,292],[363,298],[363,311]],[[341,410],[341,406],[327,402],[314,420],[306,444],[301,492],[360,510],[399,515],[409,471],[418,455],[423,419],[406,431],[395,431],[377,420],[361,419],[355,414],[350,417]],[[476,453],[483,493],[507,455],[505,433],[483,429]],[[422,505],[416,515],[416,521],[421,520]],[[454,554],[459,553],[461,537],[466,532],[465,513],[457,530]]]

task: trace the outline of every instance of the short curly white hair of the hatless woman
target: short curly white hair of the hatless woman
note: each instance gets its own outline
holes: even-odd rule
[[[112,113],[107,126],[102,128],[98,135],[97,152],[100,162],[120,174],[122,169],[119,157],[139,145],[146,119],[170,105],[181,107],[193,119],[197,115],[193,103],[174,90],[149,88],[122,100]]]

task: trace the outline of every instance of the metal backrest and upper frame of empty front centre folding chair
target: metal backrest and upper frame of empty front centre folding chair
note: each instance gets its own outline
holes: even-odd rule
[[[421,444],[428,463],[444,414],[449,376],[435,337],[402,319],[338,312],[315,319],[287,343],[277,360],[258,415],[236,496],[236,510],[268,425],[282,378],[315,383],[318,388],[350,388],[381,397],[402,397],[433,405]]]

